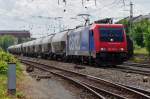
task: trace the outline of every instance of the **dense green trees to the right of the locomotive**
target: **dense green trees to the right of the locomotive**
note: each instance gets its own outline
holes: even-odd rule
[[[150,20],[143,19],[138,22],[130,23],[127,20],[122,20],[122,23],[126,27],[127,35],[129,35],[136,46],[146,47],[150,55]]]

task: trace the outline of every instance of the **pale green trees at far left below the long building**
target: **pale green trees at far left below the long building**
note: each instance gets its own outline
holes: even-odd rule
[[[0,36],[0,48],[7,51],[10,45],[14,45],[17,39],[11,35]]]

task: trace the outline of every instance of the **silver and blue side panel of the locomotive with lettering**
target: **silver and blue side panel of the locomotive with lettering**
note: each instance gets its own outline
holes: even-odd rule
[[[68,55],[89,56],[89,27],[68,34]]]

